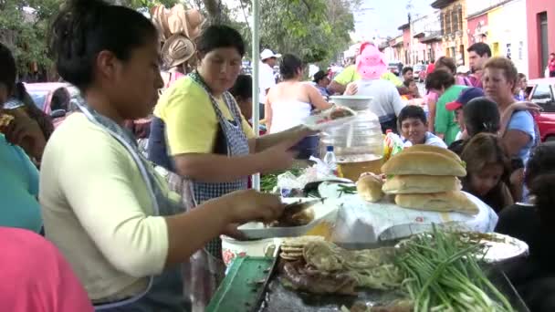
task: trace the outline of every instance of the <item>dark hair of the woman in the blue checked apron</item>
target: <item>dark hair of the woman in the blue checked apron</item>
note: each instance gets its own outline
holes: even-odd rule
[[[245,41],[236,29],[225,25],[208,26],[196,38],[196,50],[204,57],[220,47],[235,47],[241,57],[245,56]]]

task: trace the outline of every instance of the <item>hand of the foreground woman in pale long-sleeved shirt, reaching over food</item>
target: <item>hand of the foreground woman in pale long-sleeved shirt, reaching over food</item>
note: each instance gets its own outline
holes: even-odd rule
[[[285,207],[278,196],[254,190],[232,192],[222,199],[228,203],[228,207],[223,208],[229,213],[229,224],[272,222],[278,219]],[[234,231],[226,227],[225,232],[229,234]]]

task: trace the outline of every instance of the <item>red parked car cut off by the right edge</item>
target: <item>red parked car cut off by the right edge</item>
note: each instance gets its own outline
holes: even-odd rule
[[[541,141],[555,140],[555,78],[530,79],[526,91],[543,109],[536,115]]]

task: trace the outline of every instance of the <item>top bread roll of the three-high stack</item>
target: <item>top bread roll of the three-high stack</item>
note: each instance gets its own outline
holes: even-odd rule
[[[427,151],[400,152],[382,166],[382,172],[393,175],[466,176],[462,162],[443,154]]]

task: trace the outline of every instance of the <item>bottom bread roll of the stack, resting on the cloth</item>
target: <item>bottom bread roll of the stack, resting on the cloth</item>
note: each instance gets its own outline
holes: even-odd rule
[[[403,208],[430,210],[435,212],[456,212],[477,214],[475,203],[464,192],[436,192],[434,194],[398,194],[395,203]]]

